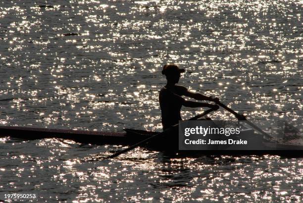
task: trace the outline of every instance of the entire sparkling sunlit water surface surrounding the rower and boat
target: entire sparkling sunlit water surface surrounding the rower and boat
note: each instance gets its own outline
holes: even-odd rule
[[[186,69],[181,83],[190,90],[219,97],[252,120],[299,119],[301,4],[2,1],[0,124],[159,131],[165,63]],[[182,110],[183,118],[202,111]],[[223,110],[211,117],[233,118]],[[35,190],[49,202],[302,201],[302,159],[175,159],[137,149],[100,161],[119,148],[54,139],[1,138],[0,145],[1,195]]]

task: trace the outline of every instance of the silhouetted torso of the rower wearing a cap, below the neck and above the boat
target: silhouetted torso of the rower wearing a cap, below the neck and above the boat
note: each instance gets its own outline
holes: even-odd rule
[[[182,101],[176,99],[175,95],[183,96],[185,87],[175,85],[174,89],[167,89],[163,87],[159,94],[159,103],[162,115],[162,126],[166,129],[172,125],[179,123],[182,120],[180,110]]]

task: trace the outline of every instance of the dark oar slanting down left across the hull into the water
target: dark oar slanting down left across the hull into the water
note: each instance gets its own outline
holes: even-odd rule
[[[204,115],[210,113],[211,111],[217,110],[218,108],[219,108],[219,106],[214,107],[214,108],[210,108],[210,109],[208,109],[208,110],[205,110],[205,111],[202,112],[201,114],[196,115],[195,117],[192,117],[192,118],[190,118],[189,120],[197,120],[198,118],[200,118],[200,117],[202,117],[202,116],[204,116]],[[139,142],[139,143],[137,143],[137,144],[135,144],[135,145],[132,145],[132,146],[130,146],[129,148],[127,148],[127,149],[125,149],[125,150],[121,150],[120,152],[117,152],[117,153],[114,153],[114,154],[112,154],[112,155],[110,155],[110,156],[107,156],[107,157],[103,158],[103,160],[104,160],[104,159],[108,159],[108,158],[114,158],[114,157],[120,155],[121,153],[125,153],[125,152],[128,152],[128,151],[131,151],[132,149],[134,149],[134,148],[136,148],[136,147],[139,147],[139,146],[141,146],[141,145],[144,145],[144,144],[146,144],[147,142],[149,142],[150,140],[152,140],[152,139],[154,139],[154,138],[156,138],[156,137],[159,137],[159,136],[165,134],[167,131],[170,131],[171,129],[175,128],[175,127],[178,126],[178,125],[179,125],[179,124],[173,125],[172,127],[168,128],[168,129],[166,129],[166,130],[164,130],[163,132],[158,133],[158,134],[156,134],[156,135],[153,135],[152,137],[147,138],[147,139],[145,139],[145,140],[143,140],[143,141],[141,141],[141,142]]]

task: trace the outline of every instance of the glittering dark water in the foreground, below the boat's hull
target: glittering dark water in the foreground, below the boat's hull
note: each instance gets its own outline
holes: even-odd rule
[[[33,193],[30,190],[35,188],[43,200],[50,194],[50,200],[56,201],[101,202],[300,202],[302,198],[301,159],[272,155],[170,158],[137,149],[101,160],[109,146],[66,146],[55,139],[13,143],[15,152],[1,155],[10,164],[0,169],[1,178],[8,180],[0,187],[23,193]]]

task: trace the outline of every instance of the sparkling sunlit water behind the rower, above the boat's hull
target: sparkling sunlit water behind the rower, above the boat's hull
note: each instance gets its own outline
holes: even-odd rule
[[[300,117],[299,2],[166,3],[3,5],[1,123],[160,129],[168,62],[186,68],[186,87],[251,118]],[[195,113],[184,108],[183,117]]]

